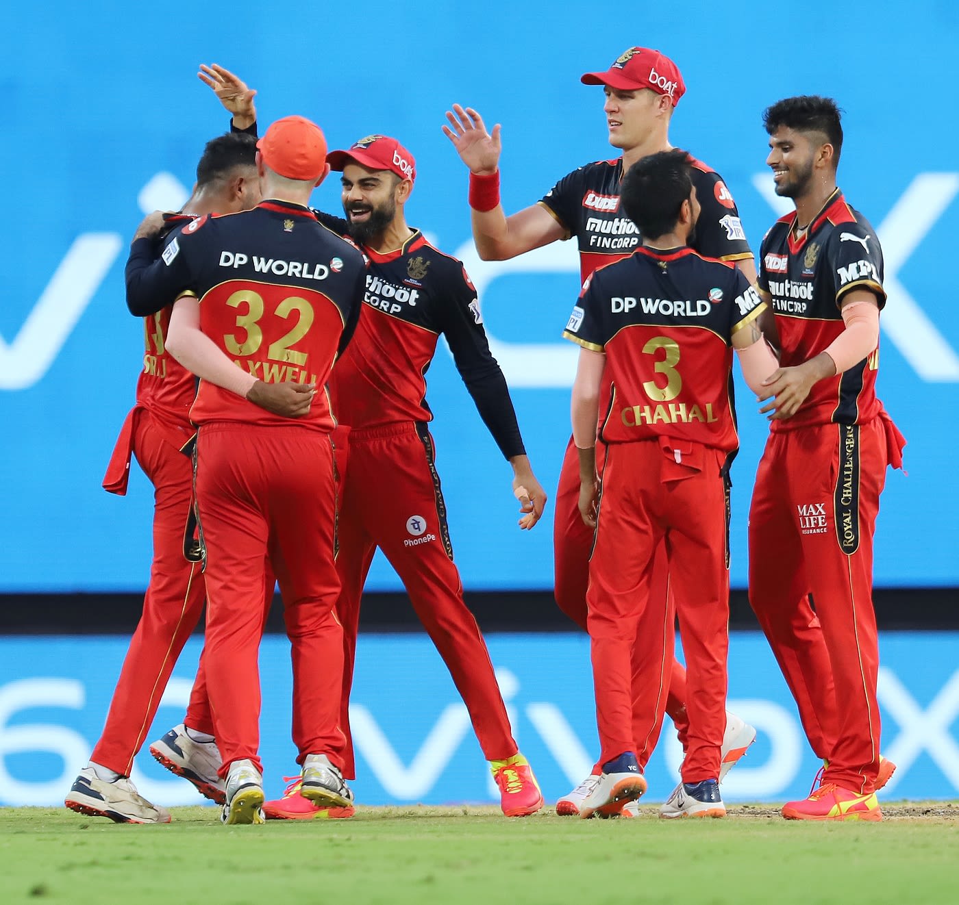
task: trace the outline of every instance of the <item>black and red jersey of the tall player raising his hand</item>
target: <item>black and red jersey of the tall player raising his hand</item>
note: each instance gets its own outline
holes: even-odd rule
[[[690,246],[707,258],[751,258],[736,201],[726,183],[706,164],[690,157],[692,184],[701,212]],[[642,244],[639,227],[620,209],[622,158],[600,160],[563,176],[539,202],[576,237],[582,281],[598,267],[632,254]]]

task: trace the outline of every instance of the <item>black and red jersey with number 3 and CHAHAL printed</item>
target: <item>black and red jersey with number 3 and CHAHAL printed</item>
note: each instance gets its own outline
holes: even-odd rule
[[[606,355],[606,443],[667,436],[738,448],[733,334],[765,308],[732,264],[641,246],[588,277],[563,336]]]

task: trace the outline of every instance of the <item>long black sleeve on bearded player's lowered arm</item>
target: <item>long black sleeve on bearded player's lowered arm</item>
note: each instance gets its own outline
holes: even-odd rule
[[[507,459],[524,455],[526,448],[516,422],[516,410],[499,362],[489,351],[476,290],[458,262],[451,262],[444,289],[446,297],[439,300],[438,319],[456,370],[500,452]]]

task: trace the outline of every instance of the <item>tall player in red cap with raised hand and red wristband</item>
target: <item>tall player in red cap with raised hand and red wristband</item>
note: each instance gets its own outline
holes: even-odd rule
[[[630,255],[641,244],[641,235],[620,210],[620,182],[630,166],[644,156],[671,147],[669,122],[686,91],[676,64],[666,55],[643,47],[631,47],[605,72],[587,73],[584,84],[603,85],[603,111],[609,143],[621,151],[614,160],[586,164],[564,176],[537,204],[506,217],[500,202],[500,127],[486,131],[479,113],[456,104],[447,113],[443,128],[470,170],[470,207],[473,237],[479,257],[502,261],[559,239],[575,237],[583,281],[599,267]],[[753,255],[742,222],[726,183],[706,164],[692,161],[692,181],[702,210],[698,228],[690,237],[698,253],[734,263],[747,280],[755,282]],[[765,330],[767,321],[763,320]],[[602,461],[603,448],[597,453]],[[587,628],[586,589],[593,532],[582,522],[577,507],[579,472],[573,439],[567,445],[556,492],[553,523],[555,597],[560,609],[582,629]],[[651,594],[669,593],[669,574],[663,545],[653,560],[649,581]],[[640,636],[633,658],[637,664],[658,656],[662,638]],[[667,712],[686,747],[686,676],[672,661]],[[735,714],[727,716],[723,740],[721,776],[736,763],[756,738],[756,730]],[[596,785],[596,764],[573,791],[556,803],[557,814],[575,815],[579,805]],[[678,788],[678,787],[677,787]]]

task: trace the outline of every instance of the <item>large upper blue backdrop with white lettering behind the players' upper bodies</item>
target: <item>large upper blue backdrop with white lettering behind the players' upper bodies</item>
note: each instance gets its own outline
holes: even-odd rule
[[[443,112],[473,104],[503,123],[503,201],[514,211],[561,175],[611,156],[602,93],[579,83],[629,44],[676,59],[688,94],[672,141],[711,163],[737,198],[754,248],[777,215],[764,167],[762,108],[819,92],[845,108],[840,184],[872,220],[886,255],[879,392],[909,440],[908,476],[890,476],[877,538],[877,583],[957,585],[951,473],[959,441],[959,319],[950,259],[959,226],[959,120],[952,85],[959,8],[915,0],[856,5],[786,23],[751,0],[691,2],[682,16],[624,7],[608,23],[571,0],[362,8],[262,4],[141,10],[64,0],[5,13],[0,55],[8,225],[0,306],[3,511],[0,592],[131,591],[150,559],[151,494],[100,489],[133,401],[142,327],[126,312],[123,265],[144,211],[176,205],[206,139],[226,127],[195,76],[200,61],[259,90],[260,118],[316,119],[335,147],[370,132],[417,158],[409,220],[462,257],[479,287],[544,486],[555,486],[569,433],[574,347],[559,334],[578,289],[570,244],[506,265],[472,249],[465,169],[440,132]],[[615,23],[615,24],[614,24]],[[694,23],[690,26],[690,23]],[[335,183],[315,203],[339,210]],[[445,351],[430,372],[438,466],[457,562],[468,587],[549,588],[550,522],[520,536],[509,470]],[[734,472],[733,582],[746,575],[748,496],[765,422],[740,391]],[[378,561],[372,589],[398,587]]]

